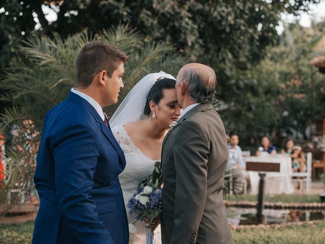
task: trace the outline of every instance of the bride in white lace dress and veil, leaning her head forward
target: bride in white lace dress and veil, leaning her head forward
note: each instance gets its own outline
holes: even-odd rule
[[[169,126],[178,120],[181,108],[177,103],[175,84],[175,78],[162,71],[146,75],[110,119],[112,132],[126,159],[125,169],[119,175],[125,205],[137,191],[140,181],[152,174],[155,161],[160,161]],[[135,222],[127,207],[126,211],[128,223]],[[143,244],[145,223],[137,221],[136,227],[137,232],[130,233],[129,243]],[[160,226],[154,230],[153,243],[161,243]]]

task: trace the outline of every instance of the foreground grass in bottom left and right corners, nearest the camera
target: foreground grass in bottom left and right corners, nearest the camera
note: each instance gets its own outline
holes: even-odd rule
[[[34,222],[0,225],[0,243],[30,243]],[[325,221],[279,229],[252,228],[233,230],[233,243],[324,243]]]

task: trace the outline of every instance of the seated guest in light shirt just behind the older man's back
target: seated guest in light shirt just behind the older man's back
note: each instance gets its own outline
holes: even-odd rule
[[[242,149],[240,146],[238,146],[239,143],[239,137],[235,133],[230,134],[230,139],[228,143],[228,149],[229,149],[229,159],[228,159],[228,165],[233,165],[233,179],[235,182],[234,187],[234,193],[240,194],[243,192],[244,186],[241,182],[243,182],[244,179],[248,179],[249,175],[246,171],[246,164],[243,159],[242,155]],[[236,182],[239,182],[239,184],[236,184]]]

